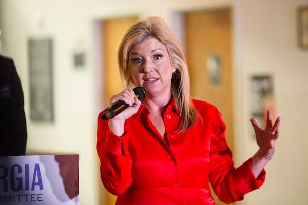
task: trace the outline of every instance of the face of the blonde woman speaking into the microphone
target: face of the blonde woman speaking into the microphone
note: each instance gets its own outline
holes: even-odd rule
[[[170,95],[172,66],[166,46],[156,38],[147,38],[129,51],[129,66],[136,86],[147,94]]]

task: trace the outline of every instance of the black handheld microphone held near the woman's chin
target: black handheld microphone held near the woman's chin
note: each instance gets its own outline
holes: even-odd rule
[[[146,91],[142,87],[136,87],[133,89],[136,97],[142,101],[146,96]],[[110,108],[108,108],[102,115],[101,118],[103,120],[111,119],[114,116],[120,114],[123,110],[125,110],[129,105],[127,105],[123,100],[119,100],[115,102]]]

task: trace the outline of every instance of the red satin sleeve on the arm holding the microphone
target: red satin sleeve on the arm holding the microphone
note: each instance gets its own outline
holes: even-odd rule
[[[128,152],[129,135],[114,135],[108,127],[109,120],[98,117],[97,152],[103,185],[108,192],[122,195],[131,185],[131,158]]]

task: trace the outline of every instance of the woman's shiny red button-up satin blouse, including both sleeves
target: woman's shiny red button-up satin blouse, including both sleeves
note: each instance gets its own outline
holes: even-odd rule
[[[212,205],[209,182],[221,201],[231,203],[262,185],[265,170],[256,179],[250,160],[234,168],[217,108],[200,100],[194,100],[194,105],[201,119],[184,133],[175,133],[180,123],[175,102],[168,106],[164,114],[167,140],[143,105],[125,121],[121,137],[109,130],[108,120],[99,114],[101,179],[110,193],[118,195],[117,205]]]

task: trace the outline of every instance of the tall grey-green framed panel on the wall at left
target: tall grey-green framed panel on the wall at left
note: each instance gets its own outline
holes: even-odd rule
[[[52,39],[28,40],[30,75],[30,118],[53,122]]]

